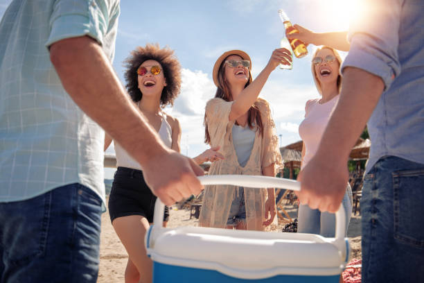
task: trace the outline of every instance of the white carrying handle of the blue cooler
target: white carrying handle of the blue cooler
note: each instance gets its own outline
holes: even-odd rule
[[[247,188],[280,188],[290,189],[292,191],[300,191],[300,182],[284,178],[274,178],[260,175],[204,175],[197,177],[199,178],[202,185],[233,185],[238,187]],[[153,227],[150,235],[150,239],[154,241],[155,237],[159,235],[162,224],[164,222],[164,203],[157,198],[154,205],[154,216],[153,216]],[[337,246],[342,257],[346,256],[346,243],[344,241],[344,233],[346,230],[345,212],[340,205],[339,210],[335,213],[336,225],[335,225],[335,241],[334,244]]]

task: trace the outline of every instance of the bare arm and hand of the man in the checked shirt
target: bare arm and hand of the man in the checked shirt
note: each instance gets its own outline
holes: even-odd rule
[[[164,146],[131,103],[95,40],[87,36],[60,40],[50,46],[50,56],[73,101],[141,164],[154,194],[171,205],[200,193],[195,173],[202,175],[202,169]],[[158,173],[164,171],[166,175]]]

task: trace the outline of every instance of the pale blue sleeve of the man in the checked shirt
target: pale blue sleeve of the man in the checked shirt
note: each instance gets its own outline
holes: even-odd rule
[[[46,46],[83,35],[92,37],[103,46],[108,22],[109,12],[105,1],[59,0],[53,6]]]

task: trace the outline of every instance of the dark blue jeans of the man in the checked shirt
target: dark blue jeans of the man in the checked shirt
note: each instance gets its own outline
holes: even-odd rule
[[[101,203],[80,184],[0,203],[0,282],[96,282]]]

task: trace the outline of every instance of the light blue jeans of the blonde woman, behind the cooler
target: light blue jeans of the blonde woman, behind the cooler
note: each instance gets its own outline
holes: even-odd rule
[[[346,215],[346,234],[352,216],[352,200],[349,197],[351,187],[348,185],[346,194],[342,200],[342,206]],[[297,232],[320,234],[323,237],[335,237],[335,214],[320,212],[318,209],[310,209],[308,205],[300,205],[298,212]]]

